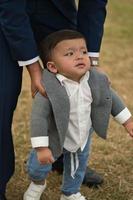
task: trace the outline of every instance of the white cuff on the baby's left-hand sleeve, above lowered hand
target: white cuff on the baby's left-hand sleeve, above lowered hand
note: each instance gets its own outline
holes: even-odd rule
[[[32,137],[31,145],[33,148],[48,147],[49,146],[49,138],[48,138],[48,136]]]

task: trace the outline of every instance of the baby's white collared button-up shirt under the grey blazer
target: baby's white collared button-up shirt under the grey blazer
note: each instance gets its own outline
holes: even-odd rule
[[[88,84],[89,71],[79,83],[60,74],[57,74],[56,77],[64,85],[70,100],[69,124],[64,148],[70,152],[76,152],[79,148],[83,150],[92,125],[90,117],[92,96]]]

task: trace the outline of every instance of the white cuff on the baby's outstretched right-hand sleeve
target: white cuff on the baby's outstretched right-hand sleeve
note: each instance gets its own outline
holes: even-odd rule
[[[115,116],[115,119],[120,123],[125,123],[130,117],[131,113],[128,108],[124,108],[118,115]]]

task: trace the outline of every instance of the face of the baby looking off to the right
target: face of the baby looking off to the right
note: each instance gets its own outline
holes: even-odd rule
[[[84,39],[64,40],[57,44],[52,53],[57,72],[74,81],[90,69],[90,59]]]

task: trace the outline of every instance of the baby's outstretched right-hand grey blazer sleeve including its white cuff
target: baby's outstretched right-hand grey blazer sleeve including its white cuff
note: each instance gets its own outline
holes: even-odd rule
[[[125,123],[130,117],[131,113],[128,108],[124,105],[122,99],[118,94],[111,89],[112,93],[112,109],[111,114],[120,124]]]

